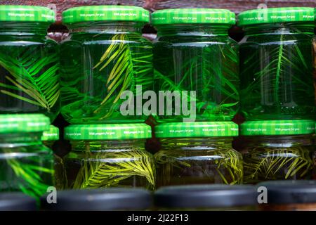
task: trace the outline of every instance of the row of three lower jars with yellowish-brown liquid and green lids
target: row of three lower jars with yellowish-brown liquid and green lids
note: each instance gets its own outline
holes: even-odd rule
[[[71,125],[65,129],[72,144],[64,158],[67,187],[152,189],[311,179],[316,160],[314,121],[245,122],[240,132],[241,153],[232,147],[233,137],[238,136],[233,122],[160,124],[154,134],[161,149],[152,158],[145,152],[144,139],[151,134],[145,124]]]

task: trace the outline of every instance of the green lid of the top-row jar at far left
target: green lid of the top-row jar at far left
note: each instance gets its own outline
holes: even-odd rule
[[[42,6],[0,6],[0,21],[55,22],[55,12]]]

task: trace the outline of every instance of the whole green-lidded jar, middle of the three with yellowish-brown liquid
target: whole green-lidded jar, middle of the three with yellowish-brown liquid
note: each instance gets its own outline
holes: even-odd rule
[[[241,184],[242,155],[232,148],[233,122],[164,123],[155,127],[157,186]]]

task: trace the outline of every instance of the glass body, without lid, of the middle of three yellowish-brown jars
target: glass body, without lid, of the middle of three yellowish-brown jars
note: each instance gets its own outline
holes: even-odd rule
[[[186,184],[242,184],[242,155],[232,139],[162,139],[154,155],[157,186]]]

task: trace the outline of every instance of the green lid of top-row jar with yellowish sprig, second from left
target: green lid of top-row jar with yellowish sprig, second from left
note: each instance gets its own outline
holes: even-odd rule
[[[150,13],[137,6],[80,6],[62,12],[62,23],[103,20],[149,23]]]

